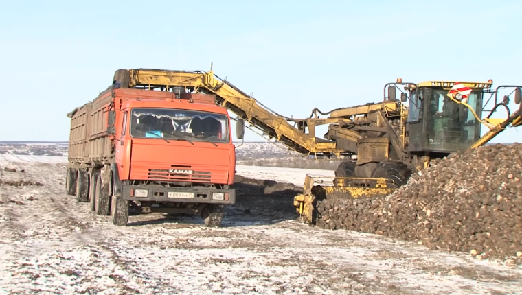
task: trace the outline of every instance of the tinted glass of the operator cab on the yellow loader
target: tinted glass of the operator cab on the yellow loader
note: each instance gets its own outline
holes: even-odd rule
[[[482,92],[473,91],[467,104],[481,117]],[[467,106],[451,100],[447,90],[434,88],[427,107],[427,146],[430,150],[465,150],[480,138],[481,123]]]

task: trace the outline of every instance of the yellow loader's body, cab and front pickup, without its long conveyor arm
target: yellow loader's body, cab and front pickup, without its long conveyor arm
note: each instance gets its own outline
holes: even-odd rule
[[[504,88],[512,91],[499,99],[499,90]],[[383,102],[331,112],[330,118],[353,115],[339,117],[350,123],[332,124],[325,137],[336,141],[337,147],[352,147],[357,161],[341,162],[333,178],[307,175],[304,193],[294,198],[297,212],[305,222],[313,223],[318,200],[387,195],[405,185],[411,174],[429,167],[431,161],[479,147],[508,126],[520,126],[521,88],[492,89],[492,80],[415,84],[398,79],[385,85]],[[510,110],[511,98],[514,111]],[[506,115],[493,118],[503,113],[498,112],[501,108]],[[488,128],[484,136],[482,125]]]

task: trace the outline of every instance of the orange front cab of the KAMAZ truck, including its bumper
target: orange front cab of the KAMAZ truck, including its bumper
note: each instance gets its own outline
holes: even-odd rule
[[[236,158],[227,110],[205,95],[187,93],[179,99],[128,99],[116,117],[122,202],[144,213],[190,212],[201,214],[208,226],[220,224],[223,205],[236,200],[229,188]]]

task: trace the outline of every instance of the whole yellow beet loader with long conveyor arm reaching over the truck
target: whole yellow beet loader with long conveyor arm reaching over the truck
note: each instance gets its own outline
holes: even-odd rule
[[[294,205],[309,223],[314,222],[317,200],[386,195],[405,185],[412,173],[429,167],[431,161],[484,145],[506,128],[522,124],[522,86],[492,89],[492,80],[416,84],[398,79],[384,86],[381,102],[326,113],[315,108],[306,119],[275,113],[214,75],[212,69],[122,69],[115,73],[114,80],[128,88],[216,95],[216,104],[238,115],[238,128],[258,131],[265,139],[280,141],[305,156],[347,158],[339,164],[334,178],[306,176],[304,193],[295,196]],[[500,98],[499,90],[506,88],[512,92]],[[512,98],[517,105],[513,112]],[[486,109],[488,104],[492,107]],[[492,118],[502,109],[506,115]],[[316,136],[316,127],[321,125],[328,125],[324,138]],[[482,125],[488,128],[484,136]]]

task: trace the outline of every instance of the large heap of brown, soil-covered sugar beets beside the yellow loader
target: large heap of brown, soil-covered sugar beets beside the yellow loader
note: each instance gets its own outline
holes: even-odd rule
[[[389,196],[317,201],[317,226],[522,263],[522,144],[451,154]]]

